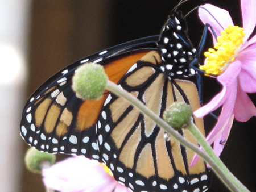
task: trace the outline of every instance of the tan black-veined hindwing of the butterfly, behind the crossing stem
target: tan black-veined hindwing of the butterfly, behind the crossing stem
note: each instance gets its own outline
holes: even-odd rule
[[[158,52],[147,53],[118,84],[160,117],[175,101],[187,102],[193,111],[199,108],[196,84],[181,79],[168,80],[159,70],[161,63]],[[203,120],[195,118],[195,123],[204,133]],[[197,145],[188,130],[180,133]],[[100,112],[97,138],[100,159],[117,181],[134,191],[204,191],[209,186],[209,170],[202,159],[189,168],[195,153],[112,93]]]

